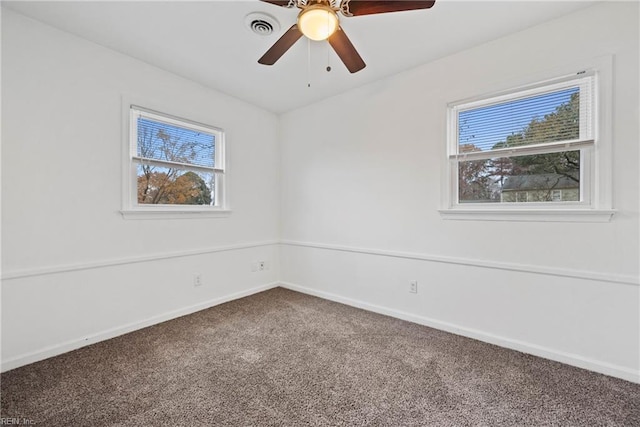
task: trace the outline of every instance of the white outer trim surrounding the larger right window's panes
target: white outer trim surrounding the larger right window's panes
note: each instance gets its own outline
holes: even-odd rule
[[[450,129],[455,121],[450,114],[454,114],[451,106],[466,104],[474,101],[494,98],[500,94],[513,93],[546,86],[551,82],[559,81],[558,76],[576,76],[578,71],[589,70],[596,76],[594,85],[594,122],[593,140],[595,144],[591,153],[585,159],[581,170],[581,181],[584,180],[585,188],[590,189],[590,194],[585,195],[585,202],[554,202],[552,205],[545,203],[500,203],[488,204],[460,204],[457,200],[458,177],[455,162],[449,158],[451,152],[451,137],[457,131]],[[575,77],[574,77],[575,78]],[[532,85],[532,82],[536,82]],[[443,219],[452,220],[485,220],[485,221],[553,221],[553,222],[608,222],[615,214],[612,208],[612,97],[613,97],[613,56],[607,55],[593,58],[579,63],[566,64],[565,66],[548,70],[536,75],[520,79],[511,84],[504,85],[501,89],[487,95],[475,96],[467,100],[453,102],[447,108],[447,152],[446,167],[442,179],[441,208],[438,210]],[[582,135],[581,135],[582,137]],[[591,139],[591,138],[589,138]],[[571,146],[580,148],[584,144],[591,144],[590,140],[558,143],[556,149],[564,151]],[[527,150],[537,151],[538,147],[530,146]],[[548,146],[547,146],[548,149]],[[505,149],[509,151],[509,149]],[[496,150],[494,153],[497,153]],[[524,152],[524,150],[523,150]],[[466,159],[471,159],[475,154],[468,153]],[[482,154],[480,154],[482,155]],[[587,172],[588,173],[585,173]]]

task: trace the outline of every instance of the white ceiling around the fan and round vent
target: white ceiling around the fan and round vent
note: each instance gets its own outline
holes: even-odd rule
[[[367,63],[355,74],[346,70],[328,43],[308,43],[305,38],[275,65],[258,64],[258,58],[295,23],[295,8],[255,0],[2,3],[281,113],[565,15],[594,1],[436,0],[427,10],[341,16],[342,27]],[[244,22],[251,12],[272,15],[280,22],[280,31],[270,36],[252,33]],[[325,70],[327,61],[331,72]]]

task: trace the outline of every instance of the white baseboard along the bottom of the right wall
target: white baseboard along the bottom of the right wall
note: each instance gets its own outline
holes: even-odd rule
[[[434,329],[439,329],[442,331],[454,333],[456,335],[477,339],[479,341],[495,344],[497,346],[520,351],[522,353],[539,356],[539,357],[553,360],[556,362],[566,363],[567,365],[572,365],[578,368],[583,368],[583,369],[598,372],[601,374],[610,375],[612,377],[621,378],[623,380],[631,381],[634,383],[640,383],[640,372],[630,368],[623,367],[623,366],[612,365],[610,363],[582,357],[577,354],[566,353],[563,351],[539,346],[537,344],[531,344],[524,341],[501,337],[501,336],[483,332],[477,329],[455,325],[449,322],[442,322],[440,320],[431,319],[424,316],[418,316],[418,315],[407,313],[400,310],[394,310],[391,308],[382,307],[375,304],[369,304],[364,301],[343,297],[341,295],[337,295],[329,292],[318,291],[316,289],[307,288],[294,283],[280,282],[280,286],[286,289],[290,289],[292,291],[302,292],[304,294],[313,295],[313,296],[327,299],[330,301],[339,302],[352,307],[357,307],[363,310],[372,311],[374,313],[384,314],[397,319],[402,319],[402,320],[417,323],[420,325],[429,326]]]

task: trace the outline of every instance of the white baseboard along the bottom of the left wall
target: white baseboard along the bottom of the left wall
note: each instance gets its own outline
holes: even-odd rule
[[[230,295],[214,298],[212,300],[195,304],[189,307],[184,307],[184,308],[169,311],[157,316],[152,316],[139,322],[129,323],[126,325],[108,329],[106,331],[98,332],[83,338],[45,347],[40,350],[36,350],[27,354],[20,355],[18,357],[14,357],[9,360],[3,360],[1,371],[6,372],[11,369],[19,368],[20,366],[24,366],[30,363],[38,362],[40,360],[48,359],[50,357],[54,357],[62,353],[76,350],[81,347],[86,347],[88,345],[95,344],[100,341],[105,341],[111,338],[115,338],[117,336],[124,335],[129,332],[136,331],[138,329],[146,328],[148,326],[156,325],[158,323],[162,323],[167,320],[175,319],[177,317],[186,316],[188,314],[192,314],[200,310],[205,310],[207,308],[214,307],[216,305],[220,305],[225,302],[233,301],[239,298],[243,298],[249,295],[259,293],[259,292],[263,292],[278,286],[279,286],[278,282],[267,283],[265,285],[247,289],[245,291],[236,292]]]

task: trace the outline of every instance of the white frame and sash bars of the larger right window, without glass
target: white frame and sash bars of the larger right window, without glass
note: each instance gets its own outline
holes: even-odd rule
[[[460,220],[508,220],[508,221],[610,221],[615,211],[611,205],[611,56],[595,58],[589,64],[571,64],[562,70],[545,73],[529,82],[511,89],[496,91],[452,102],[447,105],[447,159],[442,187],[444,219]],[[562,74],[561,74],[562,72]],[[562,76],[562,77],[553,77]],[[552,76],[551,78],[549,76]],[[589,79],[593,79],[591,82]],[[526,98],[546,92],[591,85],[592,126],[583,126],[578,140],[551,144],[538,144],[492,150],[491,152],[458,153],[458,113],[460,111]],[[582,92],[581,92],[582,93]],[[582,120],[582,115],[581,115]],[[528,203],[459,203],[458,162],[484,159],[502,155],[529,155],[547,152],[580,150],[580,197],[579,202],[528,202]]]

